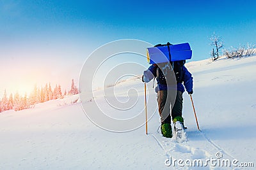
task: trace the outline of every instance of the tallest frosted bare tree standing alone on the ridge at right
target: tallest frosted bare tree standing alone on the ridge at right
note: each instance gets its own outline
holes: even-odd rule
[[[212,48],[212,60],[216,60],[220,57],[220,49],[223,48],[223,42],[220,36],[217,36],[215,32],[210,38]],[[215,50],[214,50],[215,49]]]

